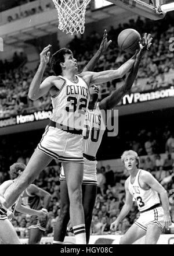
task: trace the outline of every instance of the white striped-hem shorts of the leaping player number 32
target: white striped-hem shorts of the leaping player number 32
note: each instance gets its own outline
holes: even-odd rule
[[[84,163],[83,136],[57,127],[46,126],[37,149],[61,162]]]

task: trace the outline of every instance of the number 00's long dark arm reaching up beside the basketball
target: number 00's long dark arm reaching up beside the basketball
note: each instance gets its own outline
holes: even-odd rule
[[[144,34],[144,37],[147,38],[147,34]],[[144,38],[143,37],[143,38]],[[102,101],[100,101],[100,108],[101,109],[111,109],[114,108],[119,101],[122,99],[122,97],[125,96],[126,93],[131,89],[133,82],[135,81],[135,78],[137,76],[137,72],[139,70],[140,61],[144,55],[144,52],[150,48],[151,46],[152,37],[150,37],[150,34],[148,34],[147,40],[143,40],[140,45],[140,50],[137,52],[135,64],[133,65],[133,68],[131,69],[131,72],[127,76],[124,85],[120,86],[118,89],[114,90],[113,94],[111,96],[106,97]]]

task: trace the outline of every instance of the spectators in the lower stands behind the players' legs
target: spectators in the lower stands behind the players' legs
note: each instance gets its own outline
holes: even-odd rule
[[[150,171],[150,173],[153,174],[153,176],[157,178],[157,180],[168,191],[170,213],[172,216],[172,222],[174,222],[174,201],[172,196],[172,189],[174,188],[174,158],[172,157],[172,165],[168,169],[165,167],[165,160],[163,165],[159,166],[158,160],[160,160],[160,155],[146,157],[145,162],[147,163],[149,161],[148,158],[150,158],[150,161],[153,162],[153,169],[149,169],[144,166],[143,157],[140,160],[140,168]],[[44,236],[53,236],[53,229],[60,213],[59,173],[60,163],[57,163],[53,166],[48,166],[44,171],[42,171],[40,176],[34,182],[36,185],[50,192],[52,195],[48,209],[49,220]],[[91,234],[124,234],[126,230],[128,230],[129,227],[139,217],[139,211],[137,210],[136,203],[133,203],[131,211],[129,212],[128,216],[126,216],[126,218],[119,224],[118,230],[116,232],[110,230],[110,224],[117,218],[125,202],[124,183],[126,178],[128,178],[128,173],[124,169],[117,173],[116,170],[111,170],[111,167],[107,165],[106,167],[102,166],[97,170],[98,190],[95,208],[93,209],[93,219],[90,232]],[[27,227],[30,223],[30,216],[16,212],[12,223],[20,238],[28,237]],[[170,228],[164,229],[164,233],[170,233]],[[71,223],[68,224],[66,235],[73,236]]]

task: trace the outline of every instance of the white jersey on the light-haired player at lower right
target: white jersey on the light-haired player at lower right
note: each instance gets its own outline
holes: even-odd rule
[[[152,188],[144,190],[140,187],[139,174],[141,171],[144,170],[139,169],[133,184],[131,183],[131,176],[129,177],[129,192],[131,195],[133,195],[133,198],[137,202],[137,206],[140,212],[150,208],[155,204],[160,204],[160,198],[158,197],[157,191],[154,191]]]

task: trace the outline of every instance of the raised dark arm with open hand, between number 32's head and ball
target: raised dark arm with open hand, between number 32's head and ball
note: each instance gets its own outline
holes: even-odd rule
[[[112,43],[112,40],[107,41],[107,31],[106,29],[104,30],[104,34],[103,34],[103,40],[102,43],[100,44],[100,48],[99,50],[97,50],[97,52],[95,53],[95,55],[92,57],[92,59],[90,59],[90,61],[88,62],[88,64],[85,66],[85,68],[83,69],[84,71],[93,71],[93,69],[95,68],[95,65],[97,63],[97,61],[99,61],[99,58],[102,56],[103,52],[106,51],[106,49],[108,48],[108,46]]]

